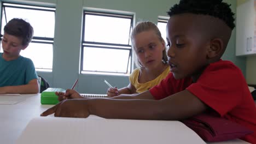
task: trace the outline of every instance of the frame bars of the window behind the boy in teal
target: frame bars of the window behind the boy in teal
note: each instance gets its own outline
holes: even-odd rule
[[[1,2],[2,6],[2,11],[1,11],[1,24],[4,16],[5,23],[7,23],[7,14],[5,8],[18,8],[18,9],[28,9],[28,10],[40,10],[40,11],[51,11],[54,12],[54,15],[56,14],[56,8],[55,7],[50,7],[50,6],[38,6],[38,5],[33,5],[33,4],[20,4],[20,3],[14,3],[14,2]],[[0,27],[0,40],[3,38],[2,34],[2,25]],[[51,44],[53,45],[54,49],[54,35],[53,38],[49,37],[33,37],[30,43],[38,43],[38,44]],[[53,66],[51,69],[49,68],[36,68],[36,71],[46,71],[46,72],[52,72],[53,71]]]

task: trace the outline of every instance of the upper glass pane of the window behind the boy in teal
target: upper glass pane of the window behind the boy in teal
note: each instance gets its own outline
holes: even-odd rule
[[[3,9],[4,13],[4,9]],[[54,11],[21,9],[5,7],[7,22],[14,17],[30,22],[34,29],[34,37],[54,37],[55,13]],[[6,25],[5,17],[2,15],[2,26]],[[1,33],[3,34],[3,27]]]

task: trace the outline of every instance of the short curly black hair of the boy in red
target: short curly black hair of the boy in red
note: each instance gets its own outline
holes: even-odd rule
[[[169,16],[184,13],[210,15],[223,20],[231,29],[235,27],[234,13],[230,9],[230,4],[222,0],[181,0],[167,11]]]

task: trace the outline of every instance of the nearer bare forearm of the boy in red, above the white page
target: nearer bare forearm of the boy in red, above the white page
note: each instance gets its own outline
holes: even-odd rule
[[[161,100],[91,99],[87,103],[91,115],[120,119],[177,121],[197,115],[207,109],[206,104],[187,90]]]

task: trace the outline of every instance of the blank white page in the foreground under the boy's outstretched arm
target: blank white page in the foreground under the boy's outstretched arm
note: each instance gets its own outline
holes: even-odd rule
[[[16,143],[200,144],[205,142],[193,130],[178,121],[38,117],[28,123]]]

